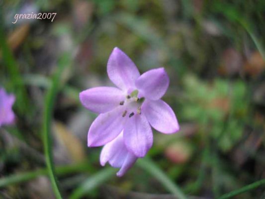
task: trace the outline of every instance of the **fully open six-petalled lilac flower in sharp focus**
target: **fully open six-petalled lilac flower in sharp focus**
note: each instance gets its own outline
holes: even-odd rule
[[[132,60],[116,47],[109,57],[107,73],[118,88],[96,87],[80,93],[82,104],[100,113],[88,130],[89,147],[120,146],[115,138],[123,131],[124,150],[121,153],[140,158],[153,144],[151,126],[167,134],[179,130],[174,111],[160,100],[169,87],[169,77],[164,68],[152,69],[140,76]],[[124,157],[121,160],[127,165]]]

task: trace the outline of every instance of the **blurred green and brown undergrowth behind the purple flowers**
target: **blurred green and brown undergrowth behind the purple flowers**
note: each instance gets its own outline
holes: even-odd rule
[[[32,12],[57,14],[12,23]],[[264,35],[264,0],[1,0],[0,85],[16,95],[16,122],[0,128],[0,198],[54,198],[45,124],[63,198],[212,199],[265,179]],[[79,101],[111,85],[116,46],[141,73],[165,67],[163,100],[181,127],[154,130],[148,157],[122,178],[87,147],[96,115]],[[264,197],[261,186],[234,198]]]

